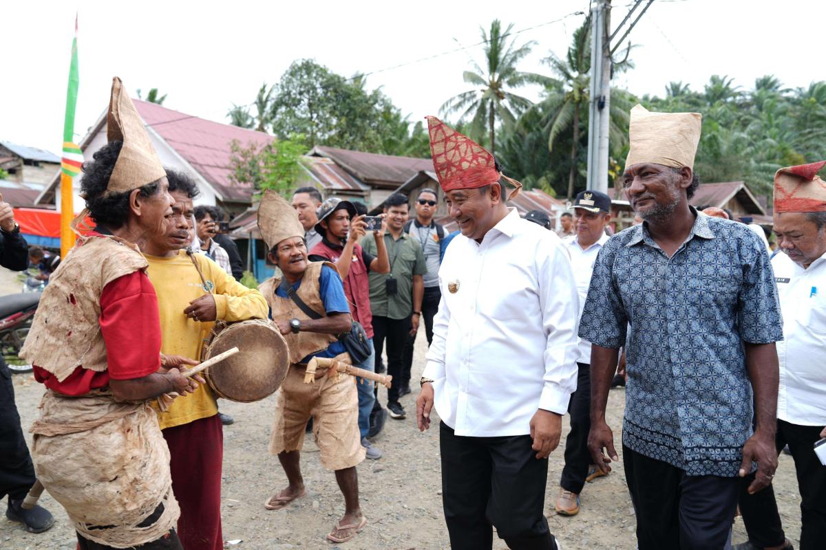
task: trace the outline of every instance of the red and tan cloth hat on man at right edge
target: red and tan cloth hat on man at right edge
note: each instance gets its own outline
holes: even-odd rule
[[[826,212],[826,181],[818,171],[826,161],[781,168],[775,174],[775,212]]]

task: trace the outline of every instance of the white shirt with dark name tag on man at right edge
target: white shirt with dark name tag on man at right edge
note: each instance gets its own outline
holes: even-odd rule
[[[826,254],[803,269],[779,252],[771,267],[783,312],[777,418],[826,425]]]

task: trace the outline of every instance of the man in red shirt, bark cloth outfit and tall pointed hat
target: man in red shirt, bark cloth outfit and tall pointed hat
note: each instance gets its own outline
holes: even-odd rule
[[[169,450],[147,400],[198,384],[161,369],[158,301],[136,246],[164,230],[173,200],[119,78],[107,125],[81,184],[97,228],[51,276],[21,351],[48,388],[31,456],[80,550],[181,548]]]

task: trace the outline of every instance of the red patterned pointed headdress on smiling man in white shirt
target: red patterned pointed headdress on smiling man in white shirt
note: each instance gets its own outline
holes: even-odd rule
[[[485,148],[435,116],[426,118],[433,167],[443,190],[477,189],[504,179],[515,187],[508,200],[519,193],[522,184],[496,170],[496,160]]]

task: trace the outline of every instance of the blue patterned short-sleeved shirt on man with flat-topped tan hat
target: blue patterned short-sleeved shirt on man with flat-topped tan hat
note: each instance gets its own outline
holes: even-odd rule
[[[672,258],[645,223],[605,243],[579,336],[627,344],[623,444],[690,476],[734,477],[752,433],[743,342],[782,340],[781,312],[760,238],[691,210]]]

